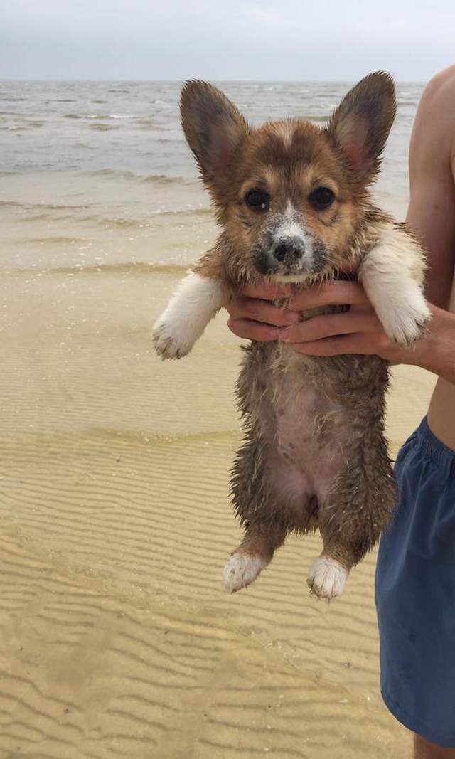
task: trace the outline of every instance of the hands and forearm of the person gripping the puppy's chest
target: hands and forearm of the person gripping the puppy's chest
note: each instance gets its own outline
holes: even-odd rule
[[[275,288],[247,287],[228,307],[232,332],[262,342],[281,339],[311,356],[376,354],[393,364],[414,364],[455,383],[453,313],[428,304],[431,321],[425,335],[411,348],[403,348],[388,339],[356,282],[331,282],[301,291],[284,310],[269,302],[276,297]],[[300,312],[325,305],[349,305],[350,310],[300,321]]]

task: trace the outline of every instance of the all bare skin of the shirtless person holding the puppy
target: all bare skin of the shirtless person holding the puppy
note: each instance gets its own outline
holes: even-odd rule
[[[240,338],[284,340],[302,354],[377,354],[438,376],[428,407],[432,432],[455,451],[455,66],[425,88],[409,146],[410,199],[406,223],[428,254],[425,295],[432,318],[413,348],[390,342],[356,282],[333,282],[293,295],[292,286],[247,287],[228,307],[228,326]],[[282,310],[271,301],[291,295]],[[300,322],[300,312],[322,305],[350,310]],[[455,759],[414,735],[415,759]]]

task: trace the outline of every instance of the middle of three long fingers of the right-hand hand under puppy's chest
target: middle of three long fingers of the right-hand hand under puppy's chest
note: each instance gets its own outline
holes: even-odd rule
[[[306,322],[281,329],[279,338],[284,342],[303,343],[327,339],[336,335],[353,333],[371,335],[374,332],[381,332],[381,324],[373,311],[371,313],[347,311],[346,313],[329,313],[320,317],[312,317]]]

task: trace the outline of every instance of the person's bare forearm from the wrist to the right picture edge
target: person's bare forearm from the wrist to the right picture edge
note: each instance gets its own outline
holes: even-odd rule
[[[428,333],[394,363],[413,364],[455,385],[455,313],[431,306]]]

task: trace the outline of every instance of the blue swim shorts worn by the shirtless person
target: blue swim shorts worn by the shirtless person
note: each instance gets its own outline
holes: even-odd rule
[[[427,741],[455,747],[455,453],[426,418],[395,464],[397,511],[381,538],[375,599],[381,693]]]

